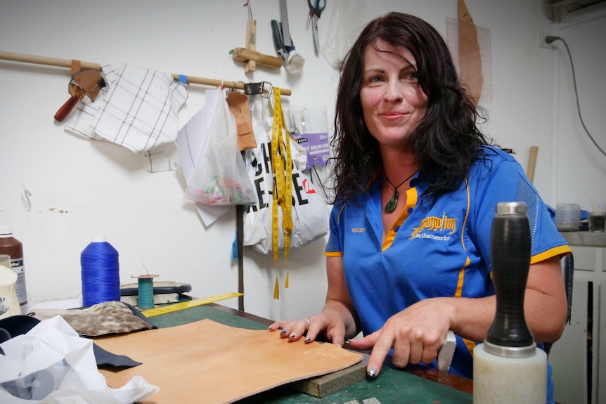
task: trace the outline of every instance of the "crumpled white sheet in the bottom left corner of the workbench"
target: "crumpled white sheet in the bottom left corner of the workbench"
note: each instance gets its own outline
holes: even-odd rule
[[[97,369],[93,341],[80,337],[60,315],[0,344],[0,403],[129,404],[157,393],[133,377],[108,387]]]

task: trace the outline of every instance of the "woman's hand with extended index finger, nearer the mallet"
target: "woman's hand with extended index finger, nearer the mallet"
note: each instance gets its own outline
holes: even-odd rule
[[[430,363],[437,358],[451,329],[452,310],[447,298],[425,299],[392,315],[383,327],[362,339],[352,339],[349,346],[372,349],[366,370],[376,376],[394,348],[392,359],[397,367],[408,363]]]

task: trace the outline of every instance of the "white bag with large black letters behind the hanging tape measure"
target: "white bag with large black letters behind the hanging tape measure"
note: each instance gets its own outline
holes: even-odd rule
[[[262,254],[273,252],[271,232],[271,206],[274,181],[271,174],[271,130],[273,118],[254,126],[257,148],[246,150],[245,162],[254,189],[257,203],[250,205],[244,216],[244,245]],[[292,150],[298,150],[296,142],[290,138]],[[304,159],[307,161],[307,159]],[[295,162],[295,157],[293,157]],[[302,247],[318,240],[328,233],[330,209],[319,190],[297,164],[292,164],[292,223],[290,248]],[[280,224],[278,249],[284,249],[282,211],[278,209]]]

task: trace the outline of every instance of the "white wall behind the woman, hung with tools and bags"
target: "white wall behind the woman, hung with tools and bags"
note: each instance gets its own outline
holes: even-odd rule
[[[321,44],[336,2],[329,0],[321,17]],[[244,3],[0,0],[0,51],[128,63],[230,81],[268,81],[292,90],[292,96],[283,100],[287,107],[325,106],[332,122],[338,73],[322,56],[314,56],[311,32],[305,30],[307,2],[288,4],[292,37],[306,60],[300,77],[283,69],[259,68],[245,74],[243,65],[231,60],[228,51],[245,44]],[[273,55],[269,24],[271,19],[280,20],[278,1],[251,4],[257,20],[257,50]],[[603,183],[604,160],[590,155],[588,145],[580,145],[574,155],[567,154],[567,143],[555,148],[562,138],[557,129],[565,122],[553,114],[554,51],[536,46],[536,32],[555,32],[540,2],[468,0],[466,4],[476,25],[489,29],[491,35],[493,91],[489,103],[481,101],[489,112],[484,129],[501,145],[514,148],[524,167],[530,146],[539,146],[534,182],[548,203],[563,197],[569,202],[573,192],[588,195],[584,184],[589,181],[579,170],[592,164],[591,172]],[[373,1],[371,10],[367,20],[390,10],[404,11],[425,18],[446,35],[446,19],[456,18],[457,2]],[[581,38],[570,41],[581,43]],[[601,60],[596,65],[603,65],[603,53]],[[579,68],[590,64],[589,60],[578,63]],[[558,72],[566,77],[564,68]],[[67,100],[68,82],[69,71],[64,68],[0,60],[0,223],[13,225],[15,237],[23,242],[30,299],[77,297],[80,252],[96,234],[106,235],[120,252],[124,283],[143,273],[145,263],[148,271],[160,274],[158,281],[190,283],[196,297],[236,291],[237,264],[231,261],[235,211],[205,227],[195,209],[182,202],[181,171],[150,174],[141,155],[65,133],[62,125],[53,122],[53,115]],[[603,91],[591,92],[592,86],[584,82],[584,97],[603,100]],[[205,89],[188,86],[179,126],[205,105]],[[566,85],[559,91],[567,96]],[[586,120],[597,128],[598,120],[604,119],[603,102],[592,109],[589,101],[585,104]],[[574,171],[555,164],[564,155]],[[25,189],[31,193],[29,202]],[[593,195],[605,204],[606,190],[599,192]],[[282,287],[278,300],[273,299],[273,256],[246,249],[245,309],[269,318],[316,313],[325,294],[323,247],[324,240],[318,240],[291,250],[290,288]],[[281,269],[279,275],[283,285],[285,271]],[[224,304],[237,307],[236,299]]]

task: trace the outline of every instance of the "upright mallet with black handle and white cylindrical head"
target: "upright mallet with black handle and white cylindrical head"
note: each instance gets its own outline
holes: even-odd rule
[[[490,233],[496,313],[473,349],[473,402],[546,403],[547,354],[524,318],[532,239],[524,202],[498,202]]]

